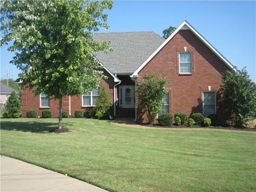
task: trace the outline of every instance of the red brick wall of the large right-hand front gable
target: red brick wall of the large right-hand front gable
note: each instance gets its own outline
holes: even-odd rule
[[[192,52],[192,74],[179,74],[179,52]],[[202,92],[218,91],[222,84],[222,72],[229,68],[190,30],[180,30],[164,48],[139,72],[142,74],[159,72],[170,82],[170,112],[202,113]],[[218,99],[219,96],[216,95]],[[217,113],[218,113],[218,103]],[[146,122],[147,118],[137,109],[138,121]]]

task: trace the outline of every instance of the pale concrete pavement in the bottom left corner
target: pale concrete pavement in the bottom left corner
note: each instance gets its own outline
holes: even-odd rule
[[[106,192],[80,180],[20,160],[1,156],[0,191]]]

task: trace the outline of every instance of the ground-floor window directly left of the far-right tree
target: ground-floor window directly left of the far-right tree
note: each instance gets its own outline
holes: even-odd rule
[[[208,116],[216,113],[216,94],[215,92],[203,92],[203,114]]]

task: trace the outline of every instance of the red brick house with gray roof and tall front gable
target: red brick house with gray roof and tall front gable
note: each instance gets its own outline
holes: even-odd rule
[[[184,21],[168,38],[154,32],[96,33],[97,41],[111,40],[114,52],[97,53],[104,65],[108,79],[101,80],[110,91],[114,104],[114,116],[134,117],[138,122],[146,122],[146,115],[137,107],[135,80],[143,74],[159,72],[170,82],[170,92],[164,95],[165,112],[175,114],[194,112],[205,116],[219,113],[219,95],[216,94],[222,82],[222,73],[234,70],[228,62],[201,34]],[[74,116],[74,111],[89,110],[99,96],[98,89],[80,96],[66,97],[64,110]],[[22,116],[26,111],[49,108],[58,117],[58,101],[46,95],[32,96],[28,89],[22,90]]]

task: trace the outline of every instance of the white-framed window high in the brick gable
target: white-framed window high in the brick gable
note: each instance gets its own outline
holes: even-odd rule
[[[192,73],[191,52],[180,52],[180,73]]]

